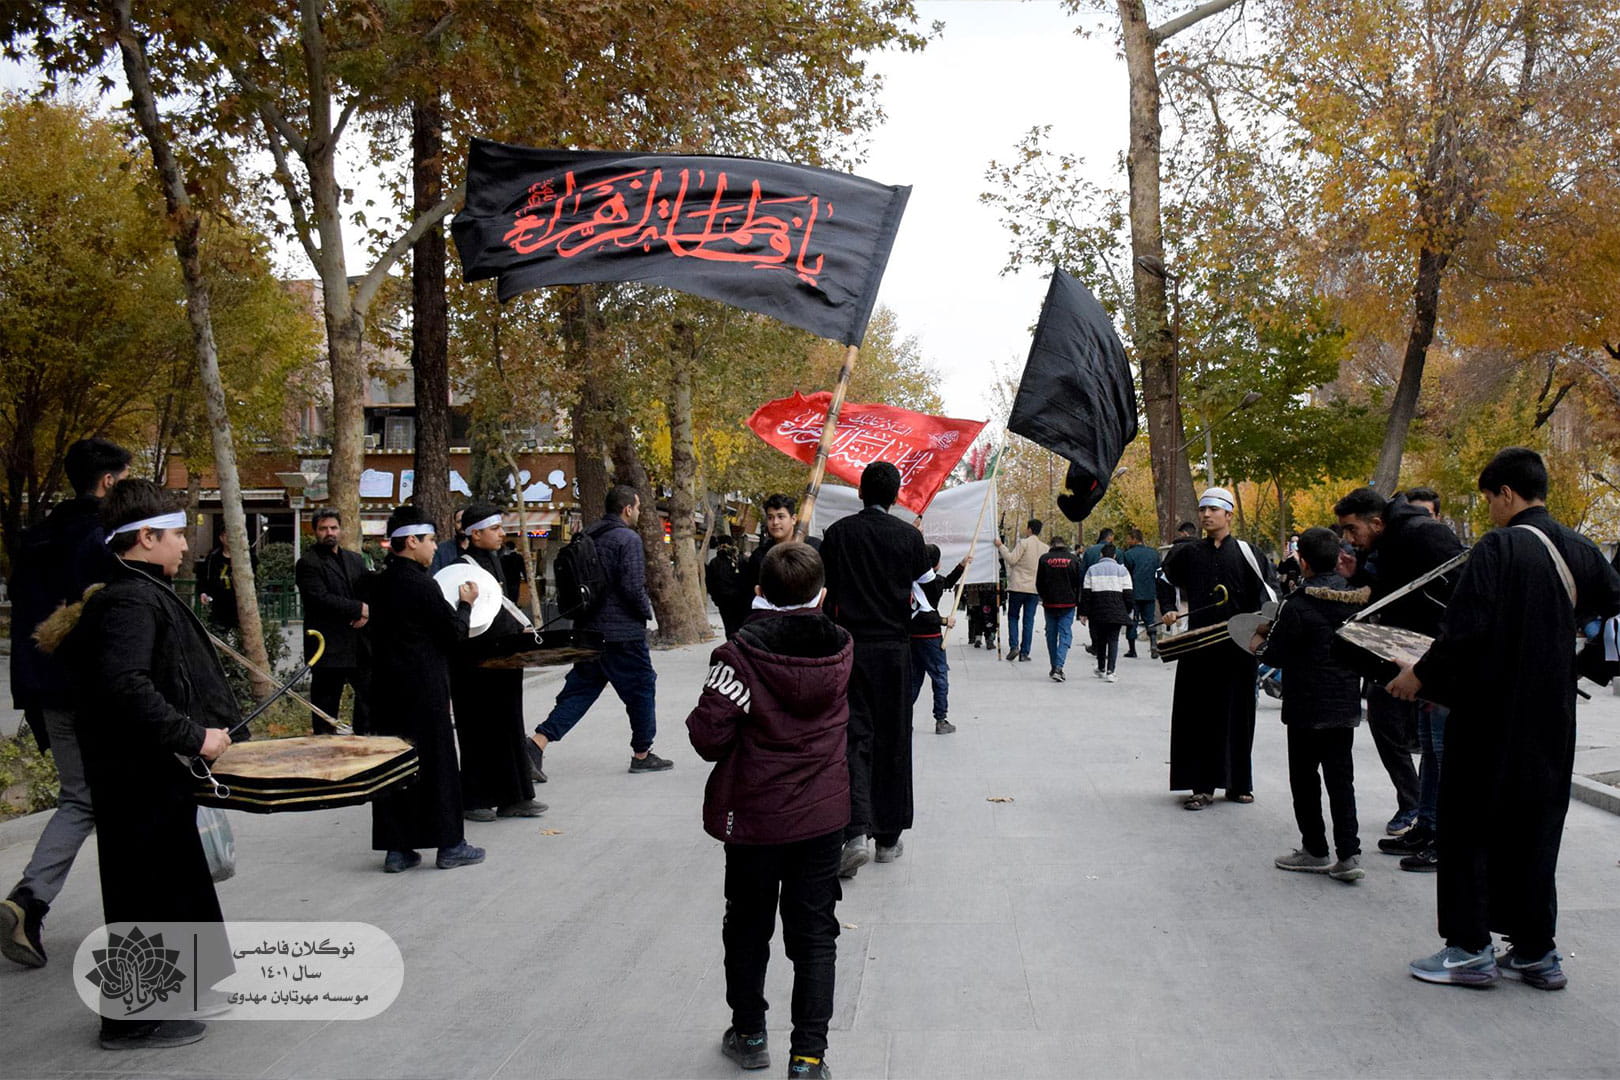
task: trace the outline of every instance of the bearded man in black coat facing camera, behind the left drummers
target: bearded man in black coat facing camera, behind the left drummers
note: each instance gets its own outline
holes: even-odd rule
[[[345,551],[343,518],[337,510],[316,510],[314,546],[293,568],[298,594],[303,597],[305,628],[326,638],[321,662],[309,670],[309,701],[327,716],[337,716],[343,687],[355,688],[355,733],[371,733],[371,643],[366,622],[371,607],[360,599],[368,588],[371,570],[358,552]],[[314,638],[305,638],[305,659],[314,654]],[[316,735],[330,735],[332,725],[311,714]]]

